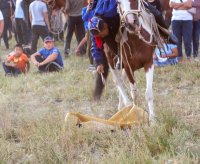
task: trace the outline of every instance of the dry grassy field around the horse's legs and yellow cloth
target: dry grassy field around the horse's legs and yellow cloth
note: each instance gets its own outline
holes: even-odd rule
[[[2,60],[9,52],[0,46]],[[109,76],[101,101],[92,101],[88,58],[64,61],[64,71],[51,74],[31,65],[26,75],[5,77],[0,68],[0,163],[200,163],[200,63],[156,68],[156,124],[111,132],[65,125],[69,111],[109,118],[118,97]],[[143,70],[136,79],[136,104],[147,109]]]

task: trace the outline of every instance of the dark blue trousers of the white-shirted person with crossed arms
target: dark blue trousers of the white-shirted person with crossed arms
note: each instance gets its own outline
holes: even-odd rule
[[[178,57],[182,58],[182,38],[185,46],[185,53],[187,58],[191,57],[192,50],[192,20],[173,20],[172,21],[172,30],[174,35],[178,39]]]

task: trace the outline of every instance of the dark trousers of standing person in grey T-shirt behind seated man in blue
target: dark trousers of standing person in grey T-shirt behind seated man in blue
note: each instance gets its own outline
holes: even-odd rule
[[[39,37],[44,40],[46,36],[49,35],[48,29],[46,26],[33,25],[32,26],[32,43],[31,43],[31,52],[35,53],[37,51],[37,43]]]

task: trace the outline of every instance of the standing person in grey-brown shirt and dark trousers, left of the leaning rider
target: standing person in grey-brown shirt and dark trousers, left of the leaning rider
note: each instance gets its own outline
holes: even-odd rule
[[[85,36],[84,25],[82,21],[82,4],[83,0],[66,0],[65,12],[68,15],[67,19],[67,35],[64,45],[65,56],[69,55],[70,44],[72,40],[73,33],[75,32],[77,45]],[[81,54],[84,54],[84,50],[81,49]]]

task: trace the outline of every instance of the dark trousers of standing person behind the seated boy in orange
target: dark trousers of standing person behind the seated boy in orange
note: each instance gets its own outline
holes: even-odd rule
[[[15,18],[17,42],[20,44],[28,44],[27,25],[22,18]]]

